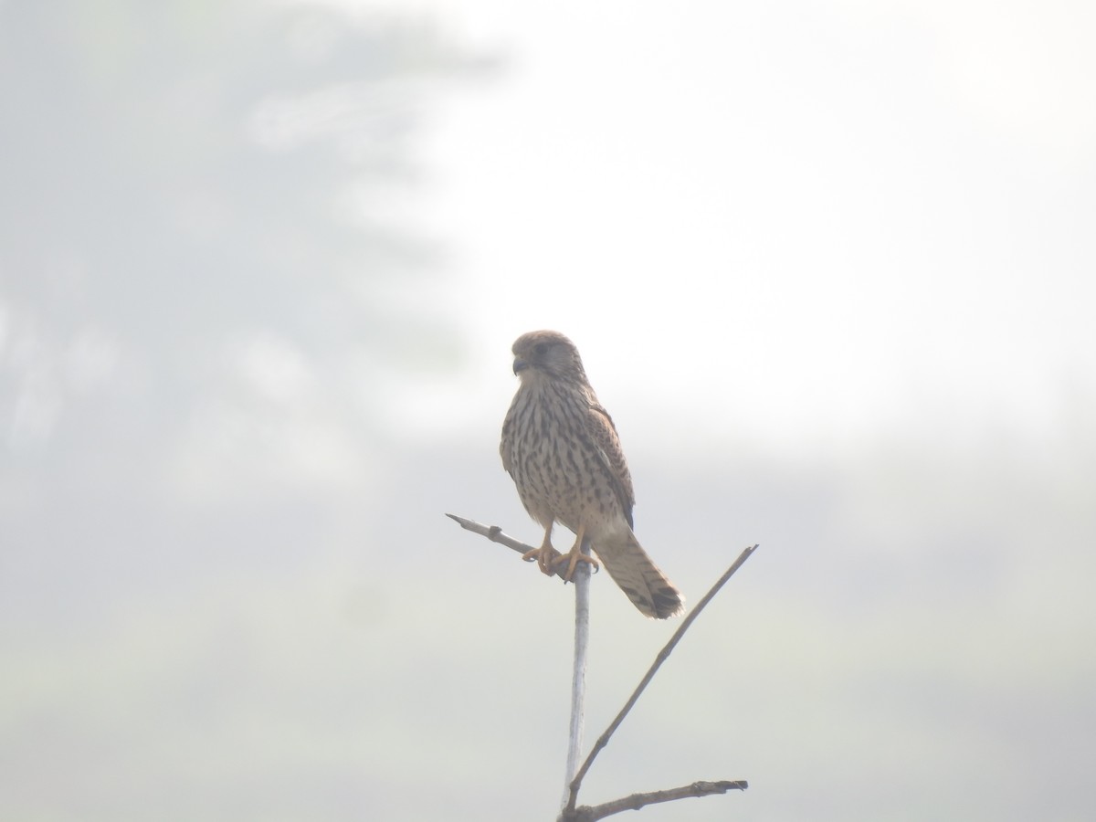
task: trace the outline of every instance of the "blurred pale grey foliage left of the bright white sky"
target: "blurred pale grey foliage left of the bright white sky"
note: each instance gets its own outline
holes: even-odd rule
[[[226,352],[258,356],[277,399],[286,369],[358,381],[429,359],[423,339],[452,345],[386,294],[438,276],[436,242],[399,207],[421,183],[423,115],[447,82],[492,69],[427,19],[0,4],[7,444],[56,444],[54,422],[105,393],[90,386],[126,395],[102,412],[123,438],[170,437],[210,397],[256,413]]]

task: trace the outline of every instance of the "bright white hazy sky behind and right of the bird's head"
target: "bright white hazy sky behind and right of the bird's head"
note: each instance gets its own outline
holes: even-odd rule
[[[426,145],[478,363],[563,326],[796,448],[1092,402],[1087,5],[421,5],[509,58]]]

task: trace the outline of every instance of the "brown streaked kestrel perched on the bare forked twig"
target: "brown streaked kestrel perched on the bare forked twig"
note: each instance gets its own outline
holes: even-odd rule
[[[570,580],[583,539],[609,576],[648,617],[684,610],[684,597],[651,561],[632,532],[636,504],[616,426],[586,378],[579,350],[558,331],[530,331],[514,342],[514,374],[521,383],[502,424],[499,453],[522,504],[545,529],[539,548],[523,555],[547,574],[567,563]],[[575,534],[560,555],[551,544],[560,523]]]

